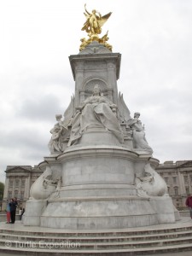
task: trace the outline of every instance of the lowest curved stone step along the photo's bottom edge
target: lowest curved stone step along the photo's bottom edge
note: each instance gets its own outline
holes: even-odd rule
[[[160,246],[160,247],[141,247],[141,248],[110,248],[106,250],[78,250],[78,249],[63,249],[61,248],[36,248],[36,247],[8,247],[8,246],[0,246],[0,252],[2,253],[20,253],[20,255],[49,255],[55,254],[57,256],[79,256],[79,255],[100,255],[100,256],[118,256],[118,255],[126,255],[126,256],[138,256],[138,255],[149,255],[154,253],[169,253],[169,252],[183,252],[183,251],[192,251],[192,243],[185,244],[177,244],[177,245],[169,245],[169,246]]]

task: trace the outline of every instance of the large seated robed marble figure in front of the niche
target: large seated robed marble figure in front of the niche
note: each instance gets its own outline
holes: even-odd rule
[[[88,127],[104,127],[119,139],[119,143],[123,143],[123,131],[119,125],[119,120],[113,113],[116,108],[117,106],[113,102],[101,95],[101,89],[96,84],[92,96],[79,106],[79,110],[74,116],[68,146],[77,143]]]

